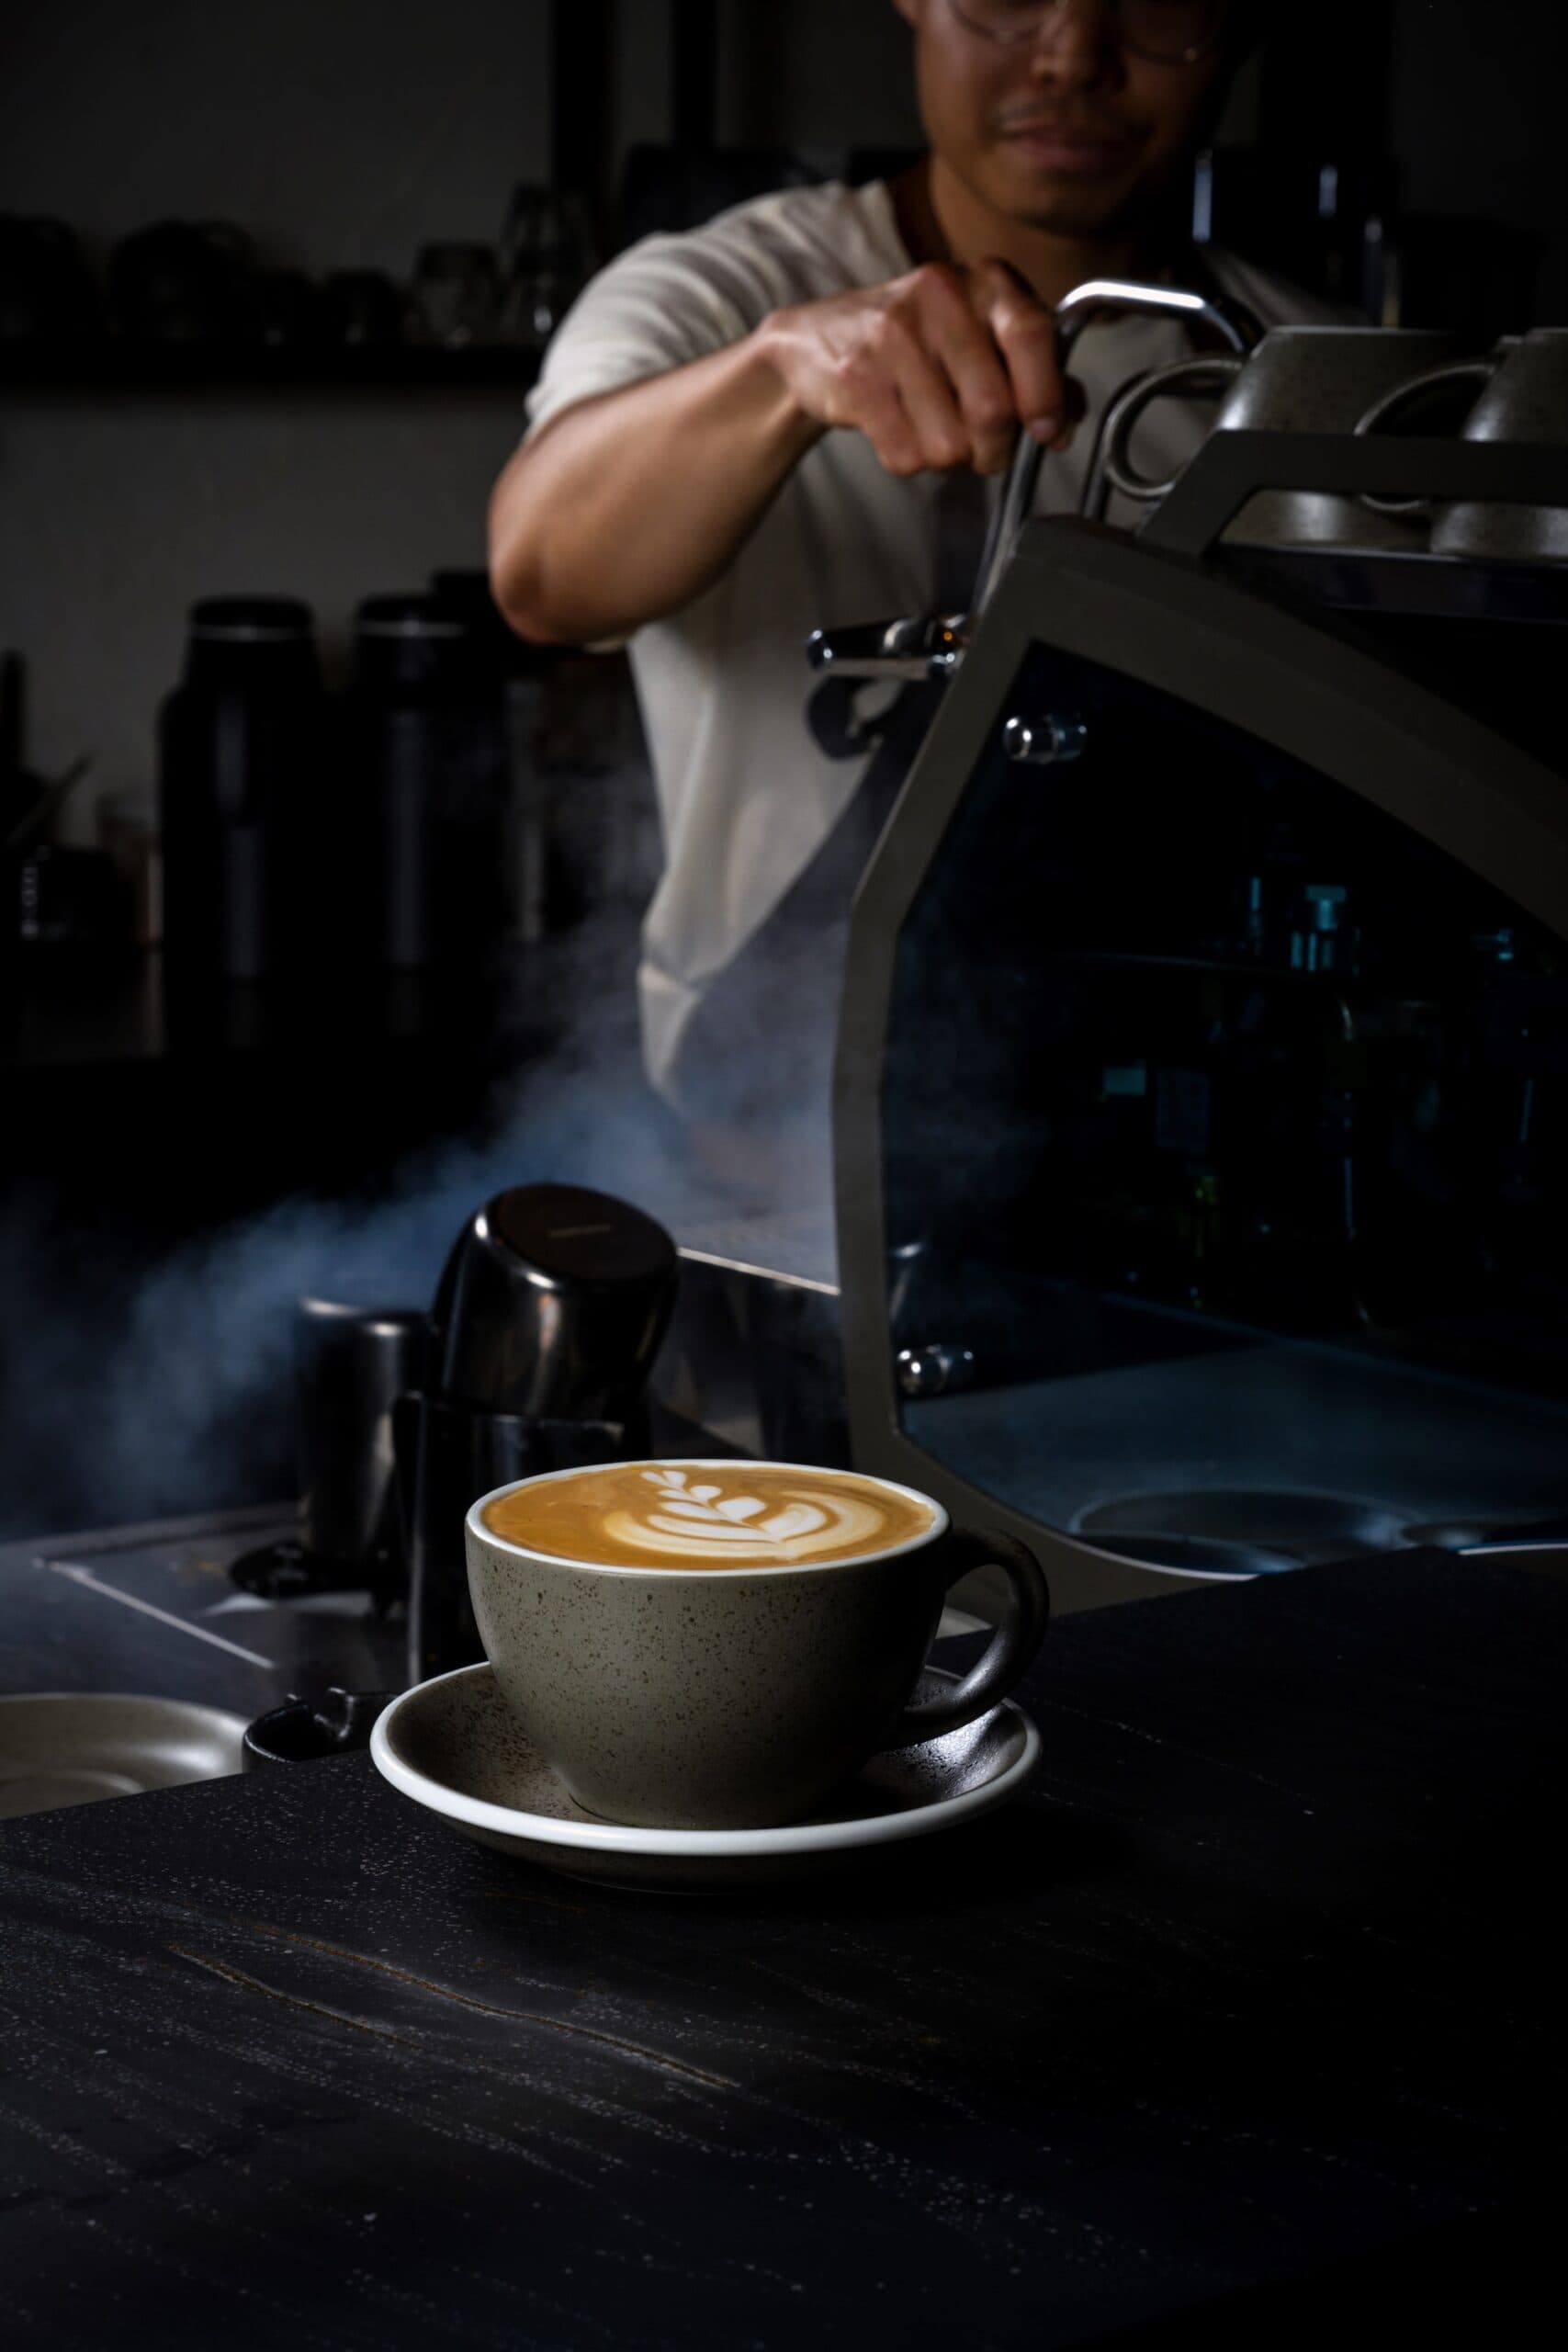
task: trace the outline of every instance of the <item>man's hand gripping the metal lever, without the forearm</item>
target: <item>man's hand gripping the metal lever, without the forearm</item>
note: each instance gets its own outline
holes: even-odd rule
[[[802,416],[865,433],[896,475],[1004,473],[1018,426],[1063,447],[1081,412],[1053,315],[1006,261],[929,261],[776,310],[755,341]]]

